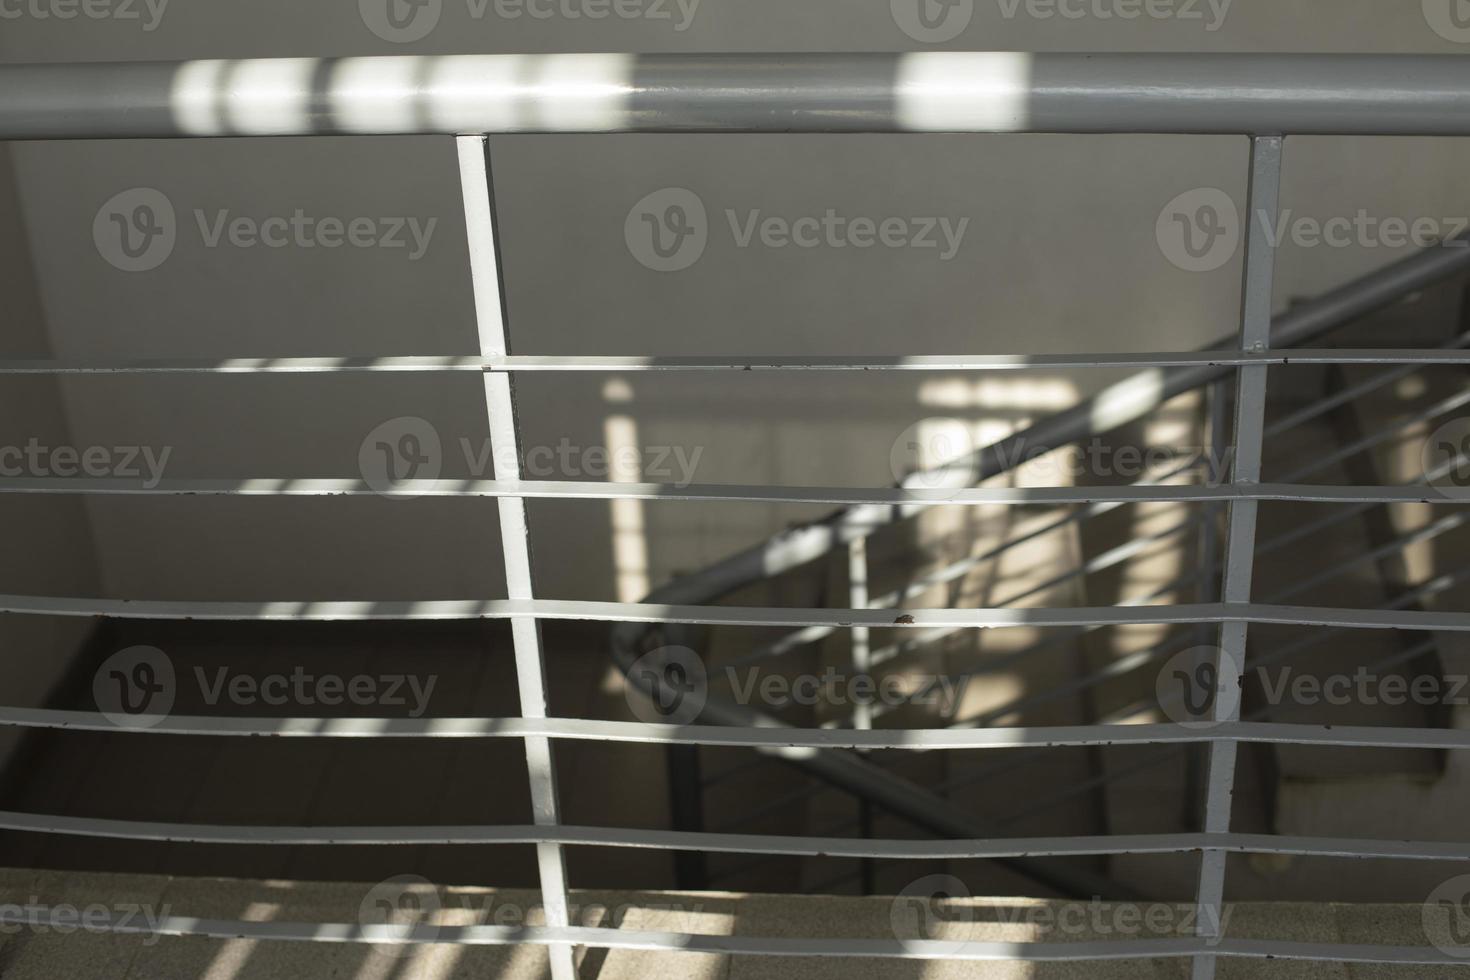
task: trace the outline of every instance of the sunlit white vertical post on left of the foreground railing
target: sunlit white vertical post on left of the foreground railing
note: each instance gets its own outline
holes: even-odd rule
[[[490,170],[490,141],[484,137],[456,137],[460,185],[465,194],[465,231],[469,237],[470,276],[475,285],[475,316],[479,325],[479,351],[487,357],[510,353],[510,326],[506,319],[504,281],[500,270],[500,239],[495,228],[494,191]],[[485,410],[490,414],[490,441],[497,480],[520,479],[520,430],[516,425],[516,400],[509,372],[485,373]],[[512,599],[535,598],[531,576],[531,536],[523,497],[500,498],[500,538],[506,563],[506,588]],[[510,621],[516,648],[516,680],[520,688],[520,714],[547,717],[547,673],[541,652],[541,623],[534,617]],[[526,738],[526,771],[531,776],[531,808],[537,826],[560,823],[556,768],[551,739]],[[566,887],[566,857],[562,845],[537,845],[541,871],[541,904],[547,926],[570,924]],[[575,980],[573,948],[553,945],[553,980]]]

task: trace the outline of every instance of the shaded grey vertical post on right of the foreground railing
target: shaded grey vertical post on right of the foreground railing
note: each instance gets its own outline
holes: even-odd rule
[[[1241,350],[1263,351],[1272,339],[1272,282],[1276,273],[1276,247],[1272,229],[1280,204],[1282,137],[1251,140],[1251,179],[1247,191],[1244,228],[1245,284],[1241,298]],[[1235,394],[1235,467],[1236,485],[1258,483],[1266,430],[1264,364],[1239,369]],[[1225,602],[1251,601],[1251,576],[1255,564],[1257,501],[1230,504],[1225,551]],[[1241,676],[1245,670],[1245,623],[1220,627],[1219,692],[1211,710],[1214,721],[1241,718]],[[1235,793],[1235,742],[1210,745],[1205,780],[1205,833],[1230,830],[1230,801]],[[1219,939],[1225,901],[1225,851],[1204,851],[1200,858],[1197,934]],[[1194,980],[1214,980],[1216,956],[1195,956]]]

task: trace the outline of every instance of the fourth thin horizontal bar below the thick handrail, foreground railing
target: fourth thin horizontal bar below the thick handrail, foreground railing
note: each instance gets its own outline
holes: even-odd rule
[[[1339,748],[1470,748],[1466,729],[1388,729],[1229,721],[1089,724],[1038,729],[786,729],[647,724],[588,718],[238,718],[168,716],[128,718],[97,711],[0,708],[0,726],[134,735],[287,739],[520,739],[550,738],[648,745],[781,749],[903,749],[910,752],[1094,745],[1252,742]]]

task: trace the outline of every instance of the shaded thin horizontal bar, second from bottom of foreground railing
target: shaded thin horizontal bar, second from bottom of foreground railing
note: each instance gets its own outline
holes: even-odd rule
[[[694,833],[632,827],[293,827],[182,824],[137,820],[94,820],[0,811],[0,829],[116,840],[238,845],[537,845],[704,851],[710,854],[769,854],[784,857],[907,860],[966,860],[1022,857],[1097,857],[1113,854],[1182,854],[1210,848],[1235,854],[1289,854],[1327,858],[1402,858],[1470,861],[1470,843],[1439,840],[1370,840],[1244,833],[1119,835],[1107,837],[1003,837],[972,840],[911,840],[748,833]]]

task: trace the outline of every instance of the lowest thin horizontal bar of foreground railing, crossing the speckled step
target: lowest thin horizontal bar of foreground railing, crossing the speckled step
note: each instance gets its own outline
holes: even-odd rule
[[[51,912],[44,905],[0,908],[0,924],[78,929],[74,908]],[[1452,965],[1464,958],[1433,946],[1364,946],[1247,939],[1104,939],[1016,943],[928,939],[775,939],[706,933],[657,933],[607,927],[544,929],[535,926],[363,926],[360,923],[262,923],[191,915],[88,915],[85,929],[132,936],[197,936],[263,942],[363,945],[512,946],[576,945],[672,954],[742,956],[816,956],[839,959],[945,959],[994,962],[1088,962],[1117,959],[1182,959],[1201,954],[1238,959],[1302,959],[1366,964]]]

